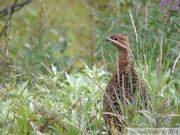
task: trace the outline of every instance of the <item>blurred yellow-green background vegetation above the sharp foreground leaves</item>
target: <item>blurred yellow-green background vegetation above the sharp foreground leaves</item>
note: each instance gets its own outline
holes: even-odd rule
[[[6,77],[12,71],[46,73],[44,66],[51,64],[69,73],[94,64],[105,64],[112,70],[118,52],[104,39],[116,32],[129,37],[135,60],[142,64],[144,57],[157,61],[162,39],[163,64],[172,68],[180,53],[179,10],[173,10],[177,5],[174,1],[165,6],[162,2],[1,0],[1,11],[8,9],[8,5],[26,3],[9,20],[8,13],[0,18],[0,30],[9,23],[0,37],[1,73]],[[138,43],[129,12],[137,29]],[[179,69],[180,64],[175,71]]]

